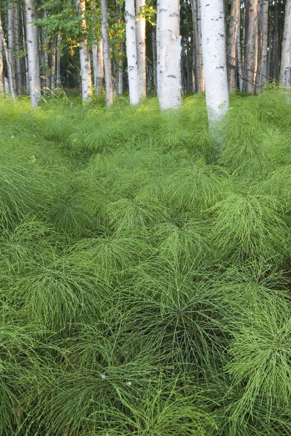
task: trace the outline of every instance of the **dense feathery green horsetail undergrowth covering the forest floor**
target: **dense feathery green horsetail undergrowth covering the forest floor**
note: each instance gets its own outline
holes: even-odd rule
[[[291,434],[291,102],[0,100],[0,434]]]

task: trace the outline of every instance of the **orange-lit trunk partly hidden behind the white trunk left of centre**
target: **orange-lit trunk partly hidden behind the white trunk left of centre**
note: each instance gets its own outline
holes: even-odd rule
[[[141,14],[141,8],[145,6],[146,0],[136,0],[136,51],[138,90],[140,98],[146,96],[146,17]]]

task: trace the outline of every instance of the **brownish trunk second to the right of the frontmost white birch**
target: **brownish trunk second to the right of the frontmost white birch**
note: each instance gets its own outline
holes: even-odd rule
[[[248,31],[245,54],[245,78],[247,93],[255,91],[258,60],[258,0],[248,0]]]

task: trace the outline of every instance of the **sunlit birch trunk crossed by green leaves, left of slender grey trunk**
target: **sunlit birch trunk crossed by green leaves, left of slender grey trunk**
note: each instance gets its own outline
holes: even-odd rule
[[[86,29],[85,20],[85,0],[76,0],[77,11],[81,16],[81,30]],[[80,63],[81,63],[81,85],[82,85],[82,101],[89,102],[92,95],[92,78],[91,78],[91,64],[90,54],[85,38],[81,38],[79,43]]]

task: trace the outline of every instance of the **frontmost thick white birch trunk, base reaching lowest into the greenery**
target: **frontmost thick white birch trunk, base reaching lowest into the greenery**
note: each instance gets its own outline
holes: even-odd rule
[[[201,1],[202,55],[210,132],[215,131],[217,122],[229,108],[224,19],[223,0]]]

